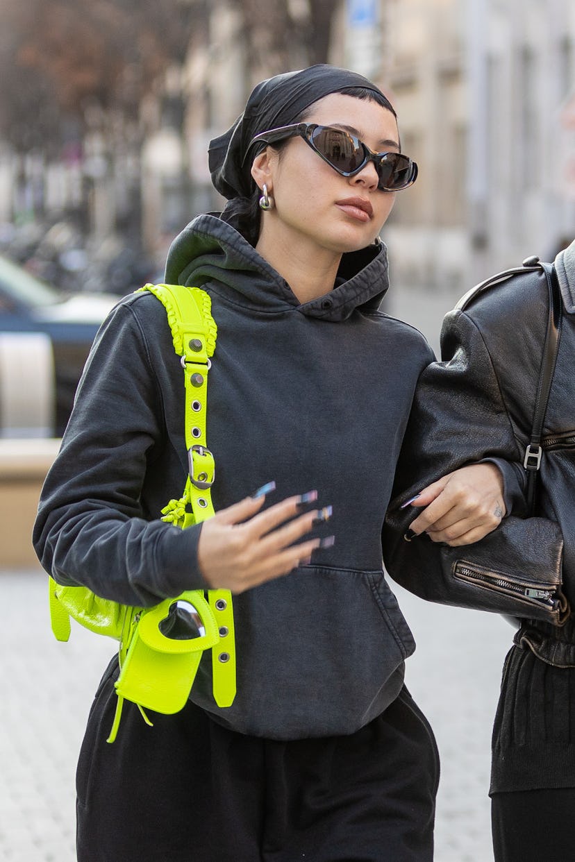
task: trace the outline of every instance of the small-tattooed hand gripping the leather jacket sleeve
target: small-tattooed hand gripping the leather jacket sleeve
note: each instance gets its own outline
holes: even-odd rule
[[[471,545],[491,533],[505,515],[503,478],[494,464],[472,464],[447,473],[409,501],[425,507],[409,525],[406,540],[427,533],[452,547]]]

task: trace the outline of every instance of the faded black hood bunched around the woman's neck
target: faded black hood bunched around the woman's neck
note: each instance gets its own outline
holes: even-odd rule
[[[309,303],[300,303],[290,285],[227,222],[216,215],[198,215],[172,242],[166,260],[166,284],[203,287],[236,303],[273,313],[286,306],[303,315],[346,320],[355,309],[378,309],[389,286],[387,249],[383,243],[344,254],[334,289]]]

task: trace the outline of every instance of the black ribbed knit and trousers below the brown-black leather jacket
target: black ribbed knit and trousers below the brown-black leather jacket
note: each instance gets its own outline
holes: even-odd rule
[[[511,647],[493,725],[495,862],[575,859],[574,698],[575,668]]]

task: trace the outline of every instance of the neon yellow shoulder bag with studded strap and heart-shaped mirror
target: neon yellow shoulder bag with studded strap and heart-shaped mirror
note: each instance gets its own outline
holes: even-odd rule
[[[214,515],[211,486],[215,463],[206,445],[210,357],[216,322],[204,290],[181,284],[146,284],[166,308],[173,346],[184,371],[185,445],[188,478],[184,493],[162,509],[162,520],[185,529]],[[136,291],[138,292],[138,291]],[[170,715],[184,708],[204,650],[212,651],[214,699],[231,706],[235,696],[235,639],[229,590],[186,590],[152,608],[135,608],[98,597],[88,587],[60,586],[49,579],[50,615],[57,640],[68,640],[70,617],[84,628],[120,642],[118,703],[109,734],[116,739],[124,700]]]

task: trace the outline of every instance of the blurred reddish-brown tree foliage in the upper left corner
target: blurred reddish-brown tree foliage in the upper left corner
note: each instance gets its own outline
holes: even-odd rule
[[[21,151],[59,145],[74,118],[135,119],[141,97],[181,61],[194,4],[186,0],[3,0],[3,134]]]

